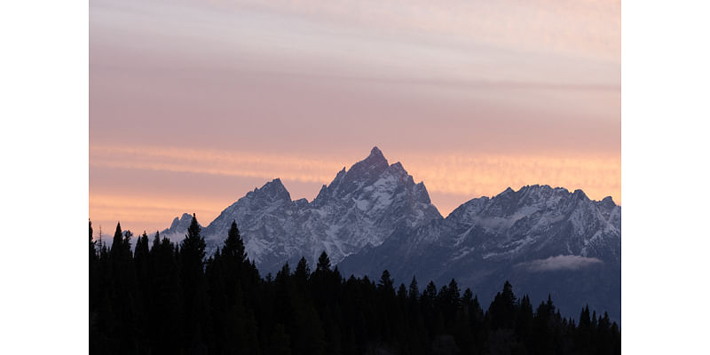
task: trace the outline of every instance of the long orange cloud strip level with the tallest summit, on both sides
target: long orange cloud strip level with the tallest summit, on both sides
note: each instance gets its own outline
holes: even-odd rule
[[[548,184],[581,188],[597,200],[612,195],[615,201],[620,201],[620,158],[613,155],[438,153],[410,154],[391,162],[396,161],[403,162],[417,181],[424,181],[429,191],[435,193],[473,198],[500,193],[508,186]],[[91,146],[89,162],[96,168],[260,177],[264,180],[280,177],[327,184],[343,167],[343,162],[348,161],[214,149]]]

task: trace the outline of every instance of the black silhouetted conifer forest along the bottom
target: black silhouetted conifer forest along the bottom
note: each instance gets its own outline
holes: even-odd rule
[[[618,354],[619,326],[517,297],[508,281],[485,310],[455,280],[440,288],[344,278],[326,253],[259,275],[235,223],[206,258],[201,228],[179,244],[146,233],[111,248],[89,222],[89,343],[95,354]]]

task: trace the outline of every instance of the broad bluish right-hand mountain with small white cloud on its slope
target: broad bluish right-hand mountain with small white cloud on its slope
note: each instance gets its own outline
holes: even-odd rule
[[[345,274],[389,270],[438,286],[452,278],[490,301],[505,280],[533,303],[552,296],[565,315],[582,307],[620,321],[621,208],[548,185],[507,189],[462,204],[446,217],[398,230],[339,264]]]

